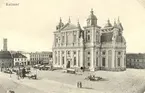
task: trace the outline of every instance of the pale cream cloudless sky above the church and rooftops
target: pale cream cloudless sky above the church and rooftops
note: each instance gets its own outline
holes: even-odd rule
[[[19,6],[6,6],[19,3]],[[120,17],[127,42],[127,52],[145,52],[145,8],[137,0],[0,0],[0,49],[3,38],[9,50],[51,51],[53,32],[62,18],[81,26],[93,8],[98,25]]]

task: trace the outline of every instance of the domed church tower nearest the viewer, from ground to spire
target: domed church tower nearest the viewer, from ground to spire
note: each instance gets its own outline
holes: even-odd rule
[[[97,17],[94,15],[93,9],[87,18],[87,26],[84,27],[85,41],[85,66],[87,69],[94,71],[94,63],[96,63],[96,51],[100,43],[100,26],[97,24]],[[97,46],[96,46],[97,45]]]

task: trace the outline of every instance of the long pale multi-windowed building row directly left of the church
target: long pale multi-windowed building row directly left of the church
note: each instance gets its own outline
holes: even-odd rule
[[[35,64],[50,64],[52,59],[52,52],[31,52],[30,62],[32,65]]]

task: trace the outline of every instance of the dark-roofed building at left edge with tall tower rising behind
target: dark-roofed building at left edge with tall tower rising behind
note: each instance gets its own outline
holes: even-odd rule
[[[3,50],[0,51],[0,67],[13,67],[13,58],[9,51],[7,51],[7,39],[3,39]]]

